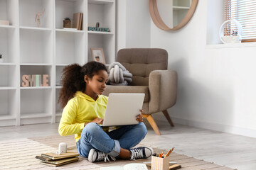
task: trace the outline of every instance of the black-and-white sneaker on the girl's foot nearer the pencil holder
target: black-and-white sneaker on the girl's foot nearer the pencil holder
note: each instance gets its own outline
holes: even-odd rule
[[[131,160],[146,159],[151,157],[153,154],[153,149],[151,147],[137,147],[129,149],[129,152],[131,152]]]

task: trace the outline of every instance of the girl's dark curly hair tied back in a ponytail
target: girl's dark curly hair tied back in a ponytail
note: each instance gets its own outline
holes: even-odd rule
[[[105,64],[100,62],[87,62],[82,67],[79,64],[71,64],[65,67],[60,81],[63,86],[58,98],[60,106],[64,108],[68,101],[74,97],[76,91],[85,91],[85,75],[92,78],[100,70],[107,72]]]

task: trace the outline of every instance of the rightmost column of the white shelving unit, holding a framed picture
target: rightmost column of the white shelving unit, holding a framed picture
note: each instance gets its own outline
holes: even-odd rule
[[[100,28],[110,28],[110,32],[88,31],[88,61],[92,60],[90,48],[103,48],[106,63],[115,61],[115,1],[111,0],[89,0],[88,6],[88,26],[96,26],[100,23]]]

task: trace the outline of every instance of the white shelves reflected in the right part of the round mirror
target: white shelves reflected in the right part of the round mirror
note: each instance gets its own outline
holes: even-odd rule
[[[173,27],[181,23],[183,18],[188,13],[192,0],[173,0]]]

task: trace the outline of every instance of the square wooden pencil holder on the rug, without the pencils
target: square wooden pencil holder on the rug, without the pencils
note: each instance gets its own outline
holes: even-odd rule
[[[169,157],[151,157],[151,170],[169,170]]]

